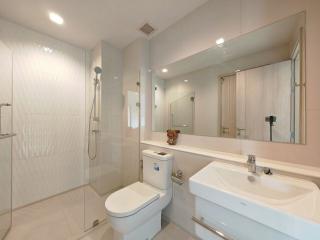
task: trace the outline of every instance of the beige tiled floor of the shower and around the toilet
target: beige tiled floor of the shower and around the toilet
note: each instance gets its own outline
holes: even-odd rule
[[[112,240],[112,229],[108,223],[83,232],[84,224],[89,227],[95,219],[104,219],[105,198],[92,188],[84,187],[15,210],[12,229],[6,240]],[[155,240],[170,239],[194,238],[174,224],[168,224]]]

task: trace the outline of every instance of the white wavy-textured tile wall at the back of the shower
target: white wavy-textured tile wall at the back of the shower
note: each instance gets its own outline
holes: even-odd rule
[[[13,51],[13,206],[83,183],[85,51],[0,20]]]

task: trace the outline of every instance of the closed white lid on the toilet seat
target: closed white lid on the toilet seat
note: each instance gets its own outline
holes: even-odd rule
[[[127,217],[135,214],[160,197],[151,186],[136,182],[112,193],[106,200],[107,213],[114,217]]]

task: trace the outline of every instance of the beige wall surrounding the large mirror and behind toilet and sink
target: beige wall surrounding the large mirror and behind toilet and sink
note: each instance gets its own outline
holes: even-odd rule
[[[307,12],[307,144],[290,145],[238,139],[182,135],[178,144],[202,147],[283,162],[320,167],[320,1],[318,0],[212,0],[151,40],[152,67],[175,62],[213,46],[215,39],[230,39],[286,16]],[[151,88],[150,88],[151,89]],[[147,101],[151,103],[150,100]],[[151,106],[149,106],[151,111]],[[148,116],[151,121],[151,116]],[[151,123],[149,123],[151,126]],[[151,128],[150,128],[151,129]],[[152,133],[153,140],[165,141],[164,133]],[[142,145],[142,148],[150,146]],[[167,149],[159,149],[168,151]],[[187,231],[194,233],[191,217],[194,197],[189,193],[188,178],[215,159],[171,151],[174,170],[181,169],[185,183],[174,184],[174,197],[164,214]]]

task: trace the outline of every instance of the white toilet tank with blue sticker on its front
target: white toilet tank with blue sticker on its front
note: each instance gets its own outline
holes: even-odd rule
[[[143,182],[161,190],[172,186],[172,161],[173,155],[165,152],[144,150],[143,157]]]

